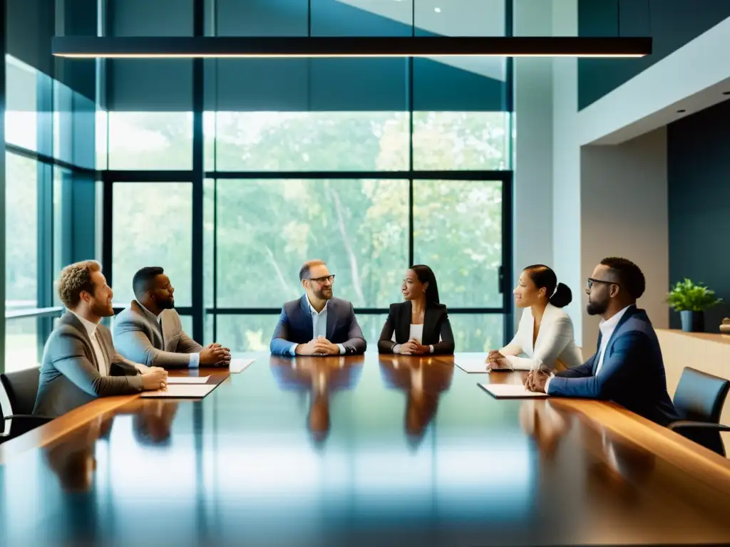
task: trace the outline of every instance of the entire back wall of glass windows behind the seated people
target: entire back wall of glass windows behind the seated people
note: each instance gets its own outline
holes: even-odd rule
[[[107,34],[190,36],[193,4],[109,1]],[[510,27],[504,0],[441,4],[208,0],[204,34],[501,36]],[[97,136],[107,139],[97,139],[96,159],[107,168],[106,268],[118,307],[137,268],[161,265],[184,320],[201,318],[196,338],[264,350],[282,303],[301,295],[301,263],[321,258],[374,342],[404,270],[426,263],[458,351],[510,334],[507,59],[127,59],[104,72]]]

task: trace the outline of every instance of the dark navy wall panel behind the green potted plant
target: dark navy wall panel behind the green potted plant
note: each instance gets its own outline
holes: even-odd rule
[[[703,282],[724,302],[705,314],[718,332],[730,316],[730,101],[672,123],[669,163],[669,280]],[[672,312],[672,327],[680,327]]]

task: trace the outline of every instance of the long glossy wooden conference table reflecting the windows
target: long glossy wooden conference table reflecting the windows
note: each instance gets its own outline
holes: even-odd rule
[[[522,374],[466,354],[237,357],[1,445],[0,545],[730,542],[729,461],[611,403],[497,400]]]

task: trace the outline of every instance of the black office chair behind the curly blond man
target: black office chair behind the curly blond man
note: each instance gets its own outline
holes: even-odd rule
[[[7,402],[12,414],[4,416],[4,409],[0,408],[2,427],[0,427],[0,442],[23,435],[40,425],[50,422],[47,416],[34,416],[33,408],[36,405],[40,369],[27,368],[23,371],[0,374],[0,382],[5,390]],[[9,428],[5,427],[9,424]]]

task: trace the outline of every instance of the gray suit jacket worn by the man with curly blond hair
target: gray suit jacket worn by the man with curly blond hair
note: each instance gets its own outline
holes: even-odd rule
[[[96,327],[96,338],[109,363],[110,376],[99,375],[99,363],[85,327],[70,311],[58,320],[48,337],[33,414],[61,416],[96,397],[129,395],[142,391],[142,376],[114,349],[112,334]]]

